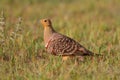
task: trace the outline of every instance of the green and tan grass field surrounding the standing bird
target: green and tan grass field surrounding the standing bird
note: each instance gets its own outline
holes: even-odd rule
[[[119,80],[119,9],[119,0],[1,0],[0,80]],[[48,54],[39,23],[46,17],[103,57],[76,65]]]

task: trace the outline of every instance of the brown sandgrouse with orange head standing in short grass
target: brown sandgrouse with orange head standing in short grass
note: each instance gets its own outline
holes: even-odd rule
[[[50,19],[42,19],[40,22],[44,27],[44,42],[48,53],[61,55],[63,56],[63,60],[67,59],[69,56],[85,56],[94,54],[75,40],[56,32],[52,27]]]

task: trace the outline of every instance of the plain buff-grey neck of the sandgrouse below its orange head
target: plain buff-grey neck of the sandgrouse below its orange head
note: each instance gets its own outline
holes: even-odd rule
[[[55,30],[50,26],[50,27],[45,27],[44,29],[44,42],[45,44],[48,43],[49,39],[51,36],[55,33]]]

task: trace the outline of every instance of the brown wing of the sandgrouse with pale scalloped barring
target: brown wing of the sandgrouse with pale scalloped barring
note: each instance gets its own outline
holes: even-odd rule
[[[54,34],[52,39],[48,43],[48,52],[55,55],[74,55],[74,54],[87,54],[83,46],[81,46],[75,40],[64,36],[62,34]]]

